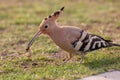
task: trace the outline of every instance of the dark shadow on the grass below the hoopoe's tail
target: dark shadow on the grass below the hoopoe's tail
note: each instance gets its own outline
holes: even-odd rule
[[[83,63],[83,65],[89,67],[90,69],[108,68],[112,65],[117,64],[120,64],[120,56],[117,56],[115,58],[102,58],[99,60],[91,60],[86,63]]]

